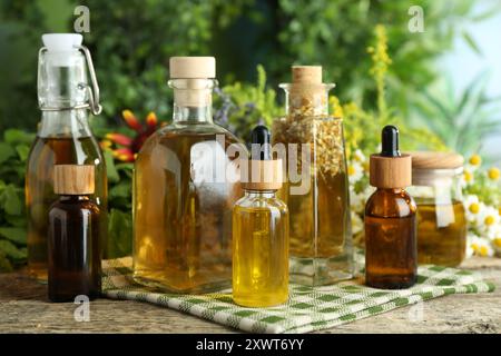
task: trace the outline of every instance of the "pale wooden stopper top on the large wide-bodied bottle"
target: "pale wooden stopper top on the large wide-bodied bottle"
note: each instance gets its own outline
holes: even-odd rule
[[[171,79],[216,78],[216,59],[214,57],[170,57],[169,72]]]

